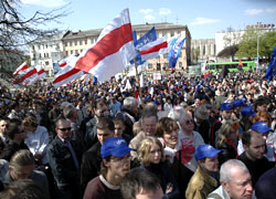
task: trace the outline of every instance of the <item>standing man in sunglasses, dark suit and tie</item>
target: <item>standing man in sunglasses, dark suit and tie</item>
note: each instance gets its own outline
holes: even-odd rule
[[[63,117],[55,123],[56,136],[49,145],[47,159],[57,185],[59,199],[78,199],[82,147],[71,139],[71,122]]]

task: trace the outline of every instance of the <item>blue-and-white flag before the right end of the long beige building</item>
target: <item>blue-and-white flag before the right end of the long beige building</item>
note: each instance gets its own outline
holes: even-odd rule
[[[182,41],[180,41],[179,39],[179,40],[176,40],[174,43],[172,43],[172,49],[170,50],[168,54],[169,69],[176,67],[178,57],[180,55],[184,41],[185,41],[185,38]]]

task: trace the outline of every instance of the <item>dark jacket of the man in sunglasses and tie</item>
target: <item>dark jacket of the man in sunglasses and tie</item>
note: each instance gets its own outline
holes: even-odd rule
[[[70,142],[74,149],[78,165],[82,160],[82,147],[75,140]],[[79,187],[79,170],[76,169],[73,156],[68,147],[60,139],[59,136],[52,140],[47,148],[49,165],[52,169],[53,176],[57,187],[77,189]]]

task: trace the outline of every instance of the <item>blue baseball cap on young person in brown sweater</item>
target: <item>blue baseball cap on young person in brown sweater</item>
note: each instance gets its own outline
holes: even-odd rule
[[[100,147],[100,155],[102,158],[106,158],[107,156],[115,156],[115,157],[124,157],[134,148],[129,148],[127,142],[121,137],[110,137],[104,142]]]

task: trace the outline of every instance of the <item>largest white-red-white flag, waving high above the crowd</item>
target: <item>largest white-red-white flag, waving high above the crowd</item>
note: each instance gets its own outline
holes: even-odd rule
[[[104,82],[121,72],[135,55],[129,12],[125,9],[102,31],[97,42],[79,54],[75,69]]]

